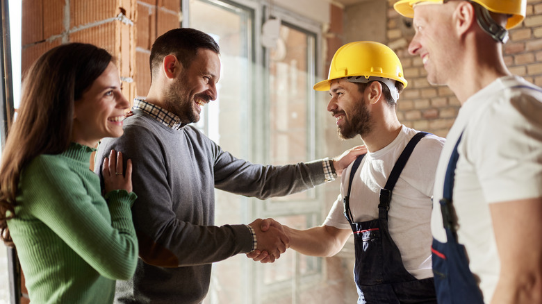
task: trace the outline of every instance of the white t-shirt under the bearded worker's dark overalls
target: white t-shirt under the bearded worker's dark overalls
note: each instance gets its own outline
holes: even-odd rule
[[[379,151],[367,153],[363,158],[350,192],[350,210],[355,222],[378,218],[380,189],[386,185],[397,158],[416,133],[416,130],[402,126],[401,132],[391,144]],[[441,137],[429,134],[418,142],[393,188],[388,211],[390,235],[399,248],[404,268],[418,279],[433,276],[431,195],[436,164],[444,141]],[[340,194],[324,225],[352,229],[343,214],[343,196],[347,194],[351,169],[352,165],[343,174]]]

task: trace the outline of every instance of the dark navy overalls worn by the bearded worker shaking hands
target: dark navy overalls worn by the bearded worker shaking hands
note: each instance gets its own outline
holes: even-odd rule
[[[404,269],[399,248],[391,239],[388,230],[388,210],[393,187],[414,147],[425,135],[425,132],[414,135],[397,159],[384,189],[380,190],[378,219],[354,223],[350,211],[350,188],[363,155],[352,165],[350,183],[343,203],[345,217],[354,231],[354,280],[359,294],[358,304],[436,303],[433,278],[418,280]]]

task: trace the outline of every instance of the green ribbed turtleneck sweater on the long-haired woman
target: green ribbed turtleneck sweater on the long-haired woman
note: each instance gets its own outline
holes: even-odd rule
[[[133,276],[136,194],[101,196],[92,149],[70,144],[22,172],[15,219],[8,221],[31,303],[113,303],[115,280]]]

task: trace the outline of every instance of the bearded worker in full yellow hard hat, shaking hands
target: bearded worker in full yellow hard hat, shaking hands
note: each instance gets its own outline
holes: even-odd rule
[[[341,180],[322,226],[284,226],[290,248],[306,255],[338,253],[352,232],[358,303],[436,303],[431,269],[431,195],[444,139],[400,123],[407,86],[401,62],[384,44],[345,44],[331,60],[327,110],[344,139],[360,135],[368,153]]]

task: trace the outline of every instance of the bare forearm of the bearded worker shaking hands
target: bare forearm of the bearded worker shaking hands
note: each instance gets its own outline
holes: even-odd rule
[[[331,257],[345,245],[350,230],[330,226],[318,226],[306,230],[297,230],[284,226],[290,237],[290,248],[304,255]]]

